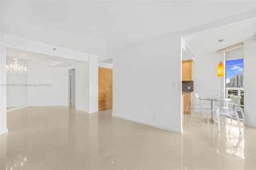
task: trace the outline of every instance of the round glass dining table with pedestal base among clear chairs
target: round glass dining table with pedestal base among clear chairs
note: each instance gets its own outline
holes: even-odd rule
[[[215,98],[215,97],[196,97],[198,100],[204,100],[204,101],[211,101],[211,119],[202,119],[203,122],[205,123],[210,123],[212,125],[218,125],[218,122],[214,119],[213,117],[213,102],[214,101],[231,101],[231,99],[226,99],[226,98]]]

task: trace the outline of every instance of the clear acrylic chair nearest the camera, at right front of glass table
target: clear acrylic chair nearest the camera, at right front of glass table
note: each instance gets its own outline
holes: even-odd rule
[[[235,108],[235,106],[238,105],[238,103],[240,103],[240,99],[241,97],[239,96],[236,99],[231,99],[231,101],[220,101],[219,107],[216,110],[216,112],[213,111],[213,113],[216,113],[216,116],[217,116],[219,132],[220,132],[220,116],[224,116],[224,117],[230,116],[231,121],[232,121],[232,116],[235,116],[238,123],[239,132],[241,134],[242,131],[241,131],[240,119],[238,117],[238,113]],[[226,125],[226,119],[224,119],[224,121],[225,121],[224,125]]]

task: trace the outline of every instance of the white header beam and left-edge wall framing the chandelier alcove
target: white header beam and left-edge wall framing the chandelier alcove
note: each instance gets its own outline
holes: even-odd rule
[[[6,47],[88,61],[89,54],[87,53],[56,47],[55,45],[28,40],[3,32],[0,34],[0,84],[6,83]],[[53,50],[53,48],[56,48],[56,50]],[[0,134],[8,132],[6,125],[6,87],[4,86],[0,87],[0,121]]]

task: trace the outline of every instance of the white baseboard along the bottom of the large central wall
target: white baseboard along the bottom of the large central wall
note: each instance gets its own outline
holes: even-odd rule
[[[133,122],[136,122],[136,123],[141,123],[143,125],[148,125],[148,126],[151,126],[151,127],[160,128],[160,129],[163,129],[163,130],[168,130],[168,131],[179,133],[179,134],[182,134],[182,132],[183,132],[183,129],[178,130],[178,129],[174,129],[174,128],[164,127],[164,126],[161,126],[161,125],[156,125],[154,123],[144,122],[144,121],[140,121],[140,120],[137,120],[137,119],[132,119],[132,118],[129,118],[129,117],[124,117],[124,116],[115,115],[115,114],[112,114],[112,116],[118,117],[118,118],[121,118],[121,119],[125,119],[125,120],[128,120],[128,121],[133,121]]]

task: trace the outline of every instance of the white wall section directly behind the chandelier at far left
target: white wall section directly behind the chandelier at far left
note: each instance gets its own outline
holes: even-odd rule
[[[14,60],[6,61],[7,65],[13,64]],[[26,61],[18,60],[18,64],[26,67]],[[16,84],[16,86],[6,87],[6,105],[7,107],[19,107],[27,105],[27,88],[23,84],[27,83],[26,74],[6,74],[6,83]],[[17,85],[18,84],[18,85]]]

